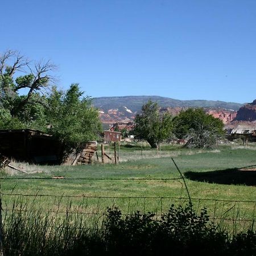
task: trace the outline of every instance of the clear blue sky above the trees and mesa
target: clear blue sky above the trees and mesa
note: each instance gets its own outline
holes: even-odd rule
[[[61,88],[256,98],[255,0],[2,0],[0,8],[0,52],[51,59]]]

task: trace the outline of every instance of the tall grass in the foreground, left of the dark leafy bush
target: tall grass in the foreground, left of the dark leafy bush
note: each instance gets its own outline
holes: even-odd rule
[[[101,250],[97,216],[72,214],[70,207],[59,213],[15,204],[3,217],[4,255],[97,255]]]

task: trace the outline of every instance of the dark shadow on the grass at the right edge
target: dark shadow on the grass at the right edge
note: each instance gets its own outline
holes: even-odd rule
[[[238,168],[210,171],[185,172],[185,177],[194,181],[227,184],[227,185],[256,185],[256,171],[245,171]]]

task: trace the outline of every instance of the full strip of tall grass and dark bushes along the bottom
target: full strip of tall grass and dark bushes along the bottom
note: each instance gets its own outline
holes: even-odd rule
[[[256,255],[256,233],[231,237],[196,214],[171,206],[167,214],[139,212],[123,216],[108,209],[101,224],[88,224],[83,214],[13,212],[3,220],[5,255]]]

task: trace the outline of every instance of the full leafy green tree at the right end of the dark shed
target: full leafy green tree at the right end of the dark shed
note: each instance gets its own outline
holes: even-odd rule
[[[78,84],[72,84],[67,92],[53,88],[48,98],[48,133],[61,139],[67,150],[96,140],[102,131],[98,110],[83,94]]]

